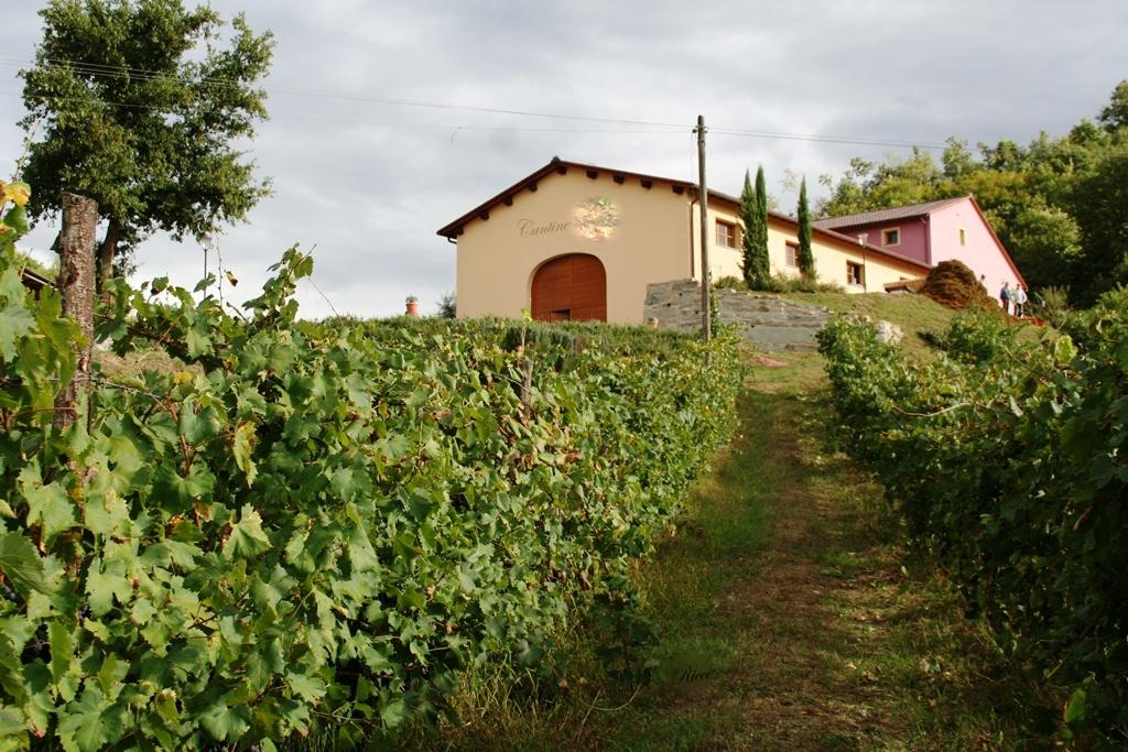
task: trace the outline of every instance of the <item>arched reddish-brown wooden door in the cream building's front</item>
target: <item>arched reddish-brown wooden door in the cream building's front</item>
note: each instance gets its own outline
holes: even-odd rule
[[[532,318],[538,321],[606,321],[607,272],[588,254],[548,262],[532,277]]]

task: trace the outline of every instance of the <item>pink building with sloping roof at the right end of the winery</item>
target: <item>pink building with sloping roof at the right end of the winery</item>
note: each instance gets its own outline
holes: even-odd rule
[[[950,259],[963,262],[992,295],[997,297],[1004,283],[1012,287],[1025,284],[972,196],[832,216],[812,224],[929,266]]]

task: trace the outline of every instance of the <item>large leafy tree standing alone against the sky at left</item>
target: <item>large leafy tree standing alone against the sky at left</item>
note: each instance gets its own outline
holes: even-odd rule
[[[97,201],[103,282],[152,232],[203,239],[268,193],[239,150],[266,118],[268,32],[179,0],[50,0],[39,15],[20,73],[21,124],[41,134],[24,172],[30,213],[55,214],[64,191]]]

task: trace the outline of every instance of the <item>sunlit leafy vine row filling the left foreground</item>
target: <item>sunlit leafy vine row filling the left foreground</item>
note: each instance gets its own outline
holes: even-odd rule
[[[535,663],[578,611],[628,600],[734,427],[732,338],[296,322],[312,262],[291,249],[245,318],[118,283],[98,336],[185,369],[95,374],[91,419],[59,431],[80,335],[26,295],[16,235],[0,749],[346,745],[426,717],[468,665]]]

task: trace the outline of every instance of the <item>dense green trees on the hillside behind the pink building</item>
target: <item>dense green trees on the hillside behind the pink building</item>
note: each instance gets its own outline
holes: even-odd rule
[[[1042,133],[1026,145],[948,140],[940,163],[923,150],[906,159],[851,161],[818,203],[820,216],[853,214],[972,194],[1036,290],[1068,286],[1089,303],[1128,284],[1128,80],[1094,123]]]

